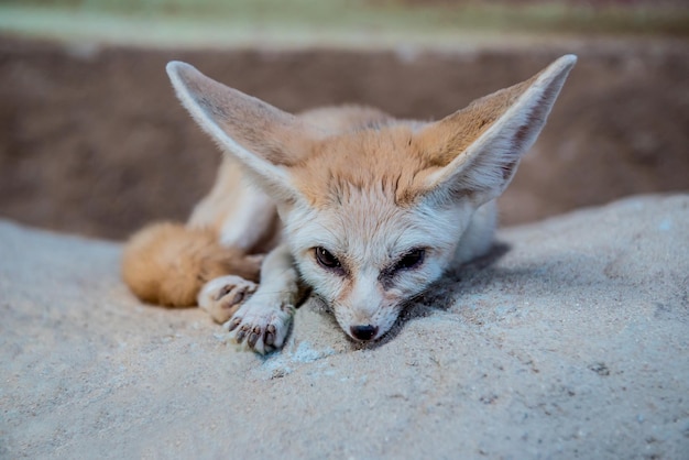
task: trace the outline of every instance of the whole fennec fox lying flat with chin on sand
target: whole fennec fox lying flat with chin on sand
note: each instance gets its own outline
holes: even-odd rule
[[[223,162],[185,226],[132,237],[124,281],[144,300],[197,302],[260,353],[282,347],[309,289],[348,336],[376,340],[451,263],[490,249],[494,200],[575,63],[422,122],[353,106],[294,116],[172,62]]]

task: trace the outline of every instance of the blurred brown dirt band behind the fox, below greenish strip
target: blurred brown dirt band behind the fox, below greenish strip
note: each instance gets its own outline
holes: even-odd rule
[[[0,37],[0,216],[109,239],[152,219],[185,219],[220,155],[176,101],[171,59],[288,111],[357,102],[437,119],[576,53],[548,125],[501,200],[503,223],[689,189],[686,41],[458,48],[142,50]]]

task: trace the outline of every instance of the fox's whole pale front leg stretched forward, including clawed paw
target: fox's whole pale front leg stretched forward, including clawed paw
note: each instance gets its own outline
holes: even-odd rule
[[[265,354],[282,348],[289,332],[295,308],[308,289],[299,280],[288,248],[282,244],[270,252],[261,266],[256,292],[227,321],[238,343]]]

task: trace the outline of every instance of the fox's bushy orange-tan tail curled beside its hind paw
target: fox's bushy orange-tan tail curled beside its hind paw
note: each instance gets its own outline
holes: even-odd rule
[[[260,256],[221,247],[214,230],[163,222],[130,238],[122,255],[122,278],[144,302],[188,307],[196,305],[204,284],[218,276],[258,282],[260,264]]]

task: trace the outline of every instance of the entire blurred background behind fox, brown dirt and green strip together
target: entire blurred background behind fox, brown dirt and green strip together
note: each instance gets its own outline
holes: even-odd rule
[[[686,193],[688,45],[687,0],[0,0],[0,218],[109,239],[186,219],[220,153],[171,59],[288,111],[438,119],[575,53],[503,224]]]

